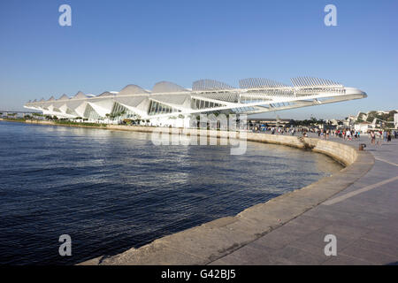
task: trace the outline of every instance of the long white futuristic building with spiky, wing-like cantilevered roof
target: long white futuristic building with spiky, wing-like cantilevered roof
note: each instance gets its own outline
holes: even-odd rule
[[[249,78],[239,88],[217,80],[196,80],[192,89],[160,81],[152,91],[130,84],[119,92],[99,96],[75,96],[26,103],[25,108],[58,118],[103,120],[112,117],[176,119],[200,113],[256,114],[305,106],[337,103],[366,97],[358,88],[348,88],[333,80],[297,77],[288,85],[275,80]]]

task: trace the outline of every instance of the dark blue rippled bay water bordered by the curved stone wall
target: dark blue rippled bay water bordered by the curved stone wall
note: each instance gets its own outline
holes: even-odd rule
[[[155,146],[150,134],[0,121],[0,264],[76,264],[233,216],[341,170],[248,142]],[[73,256],[58,238],[72,237]]]

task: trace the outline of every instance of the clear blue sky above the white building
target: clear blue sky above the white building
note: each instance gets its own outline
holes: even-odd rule
[[[72,27],[58,25],[61,4],[72,7]],[[337,27],[325,27],[326,4],[337,7]],[[2,0],[0,110],[131,83],[238,86],[247,77],[289,83],[300,75],[337,80],[369,97],[263,117],[398,109],[397,32],[394,0]]]

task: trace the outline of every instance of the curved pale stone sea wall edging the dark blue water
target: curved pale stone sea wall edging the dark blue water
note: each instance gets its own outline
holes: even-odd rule
[[[154,130],[153,127],[145,126],[108,128],[130,131],[134,128],[134,131],[146,133]],[[188,130],[180,131],[183,133]],[[201,130],[198,134],[228,137],[228,132],[223,131]],[[139,249],[128,249],[116,256],[100,256],[81,264],[211,264],[325,202],[362,177],[374,164],[374,157],[369,152],[358,151],[339,142],[278,134],[246,134],[247,140],[251,142],[275,143],[320,152],[333,157],[346,167],[333,176],[280,195],[266,203],[258,203],[233,217],[218,218],[201,226],[167,235]]]

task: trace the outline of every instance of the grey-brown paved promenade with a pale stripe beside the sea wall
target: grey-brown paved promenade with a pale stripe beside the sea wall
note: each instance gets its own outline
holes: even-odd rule
[[[311,135],[310,137],[315,137]],[[361,179],[325,203],[211,264],[398,264],[398,140],[371,146],[376,159]],[[337,256],[325,256],[325,235]]]

